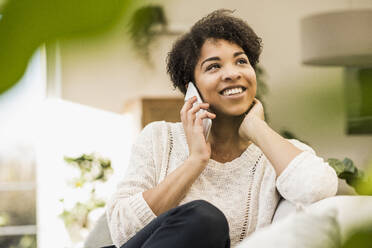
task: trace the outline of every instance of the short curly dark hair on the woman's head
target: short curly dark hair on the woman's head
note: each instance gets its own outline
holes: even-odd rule
[[[239,45],[253,68],[262,51],[262,40],[242,19],[232,16],[233,11],[213,11],[181,36],[168,53],[167,72],[174,88],[186,93],[186,84],[194,82],[194,70],[201,48],[207,39],[224,39]]]

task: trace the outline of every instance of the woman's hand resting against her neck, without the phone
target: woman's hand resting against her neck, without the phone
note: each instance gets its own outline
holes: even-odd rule
[[[253,100],[253,104],[253,107],[249,110],[242,124],[240,125],[239,135],[243,139],[254,142],[254,134],[256,133],[255,129],[259,126],[256,124],[264,121],[265,115],[262,103],[257,98]]]

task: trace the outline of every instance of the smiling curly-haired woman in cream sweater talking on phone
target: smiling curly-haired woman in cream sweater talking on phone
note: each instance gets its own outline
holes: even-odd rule
[[[218,10],[198,21],[168,56],[168,73],[205,103],[181,110],[182,123],[145,127],[107,208],[117,247],[236,246],[271,223],[280,197],[309,204],[332,196],[336,173],[307,145],[264,121],[255,99],[261,39]],[[196,115],[200,110],[207,110]],[[210,135],[202,120],[212,119]]]

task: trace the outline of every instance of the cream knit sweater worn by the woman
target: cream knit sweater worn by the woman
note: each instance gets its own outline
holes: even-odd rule
[[[335,195],[335,171],[309,146],[297,140],[290,142],[304,152],[279,177],[254,144],[231,162],[210,159],[180,205],[203,199],[218,207],[228,220],[234,247],[271,223],[280,197],[295,204],[309,204]],[[153,122],[140,133],[125,177],[107,204],[108,225],[117,247],[156,218],[142,192],[159,184],[187,157],[182,123]]]

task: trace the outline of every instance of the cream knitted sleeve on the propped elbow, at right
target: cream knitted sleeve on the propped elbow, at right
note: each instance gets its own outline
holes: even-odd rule
[[[298,140],[289,141],[303,152],[277,178],[276,187],[281,196],[294,204],[310,204],[334,196],[338,178],[333,168],[308,145]]]

